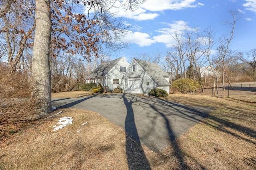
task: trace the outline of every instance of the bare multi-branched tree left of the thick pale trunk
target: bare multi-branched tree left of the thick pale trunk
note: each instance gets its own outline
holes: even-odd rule
[[[34,24],[34,4],[29,2],[14,3],[8,13],[5,13],[0,22],[1,56],[5,56],[9,68],[14,74],[20,60],[24,60],[23,52],[31,49]],[[28,20],[28,16],[30,20]]]

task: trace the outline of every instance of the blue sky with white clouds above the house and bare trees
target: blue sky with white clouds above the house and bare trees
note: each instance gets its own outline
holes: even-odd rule
[[[116,4],[118,6],[118,2]],[[246,52],[256,48],[256,0],[147,0],[138,10],[113,8],[116,17],[132,27],[122,39],[129,48],[113,54],[112,59],[125,57],[128,62],[142,53],[154,57],[156,51],[165,53],[174,45],[171,34],[182,31],[184,25],[204,30],[213,26],[216,41],[230,28],[224,21],[232,20],[228,10],[237,10],[238,20],[231,48]]]

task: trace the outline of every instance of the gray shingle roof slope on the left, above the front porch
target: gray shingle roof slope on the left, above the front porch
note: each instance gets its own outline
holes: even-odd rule
[[[120,61],[122,59],[115,59],[113,61],[107,62],[105,64],[101,64],[100,66],[98,66],[95,70],[93,70],[89,76],[86,77],[86,79],[90,78],[94,78],[94,77],[100,77],[100,76],[106,76],[106,74],[118,63],[118,61]]]

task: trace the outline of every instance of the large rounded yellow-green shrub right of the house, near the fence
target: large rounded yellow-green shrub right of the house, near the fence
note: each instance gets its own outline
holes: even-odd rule
[[[172,82],[173,88],[178,88],[178,90],[185,94],[186,92],[195,92],[200,88],[200,84],[189,78],[181,78]]]

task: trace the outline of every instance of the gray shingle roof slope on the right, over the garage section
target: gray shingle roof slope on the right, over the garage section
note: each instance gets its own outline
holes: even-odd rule
[[[158,64],[134,59],[157,85],[171,85],[165,78],[169,75]]]

